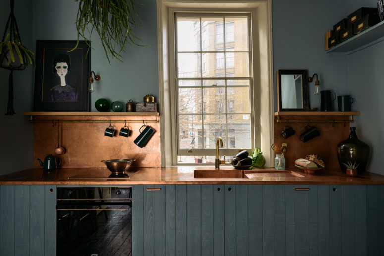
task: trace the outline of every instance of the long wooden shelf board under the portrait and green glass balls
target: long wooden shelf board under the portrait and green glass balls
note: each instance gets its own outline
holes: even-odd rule
[[[159,116],[158,112],[24,112],[30,116]]]

